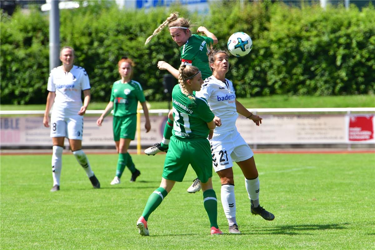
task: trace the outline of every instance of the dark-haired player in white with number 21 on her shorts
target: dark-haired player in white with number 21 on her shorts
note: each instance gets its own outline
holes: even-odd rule
[[[204,97],[211,111],[220,117],[222,126],[216,127],[211,143],[213,168],[221,181],[221,202],[229,223],[229,232],[240,234],[236,221],[236,200],[234,197],[233,162],[245,176],[245,186],[251,201],[251,213],[259,214],[265,220],[275,216],[259,205],[259,179],[254,153],[236,128],[238,113],[259,126],[262,118],[248,111],[237,99],[231,81],[225,78],[229,70],[228,53],[211,49],[208,61],[213,75],[208,77],[197,97]]]

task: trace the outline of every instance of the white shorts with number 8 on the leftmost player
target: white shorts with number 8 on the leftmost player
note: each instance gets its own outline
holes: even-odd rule
[[[83,116],[61,117],[51,115],[51,137],[66,137],[82,141]]]

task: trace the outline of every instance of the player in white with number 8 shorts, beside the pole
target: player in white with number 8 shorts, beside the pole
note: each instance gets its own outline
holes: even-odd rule
[[[51,113],[52,178],[51,192],[60,190],[60,174],[65,137],[69,139],[71,150],[78,163],[86,171],[94,188],[100,183],[91,169],[89,160],[82,150],[83,115],[90,102],[90,81],[83,67],[73,65],[74,49],[65,46],[60,51],[63,65],[51,70],[48,78],[46,109],[43,124],[49,127],[49,111]],[[81,93],[84,94],[82,103]]]

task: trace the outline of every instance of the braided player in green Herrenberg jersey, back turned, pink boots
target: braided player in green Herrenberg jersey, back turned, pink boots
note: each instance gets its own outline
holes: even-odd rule
[[[179,83],[172,91],[174,127],[171,143],[164,162],[160,187],[151,193],[142,216],[136,226],[139,234],[149,235],[147,220],[172,190],[176,181],[182,181],[189,164],[201,180],[203,204],[211,224],[211,235],[222,234],[217,225],[217,199],[212,189],[212,156],[207,136],[221,125],[208,107],[205,99],[197,98],[193,91],[199,91],[203,84],[197,67],[182,65]],[[182,229],[183,230],[183,229]]]

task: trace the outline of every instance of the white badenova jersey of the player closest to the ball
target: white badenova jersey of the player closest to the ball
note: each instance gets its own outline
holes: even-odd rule
[[[210,76],[204,80],[201,90],[195,93],[197,97],[204,97],[214,115],[221,119],[222,125],[215,128],[215,134],[236,129],[238,113],[234,92],[231,81],[225,79],[225,82],[222,82]]]

